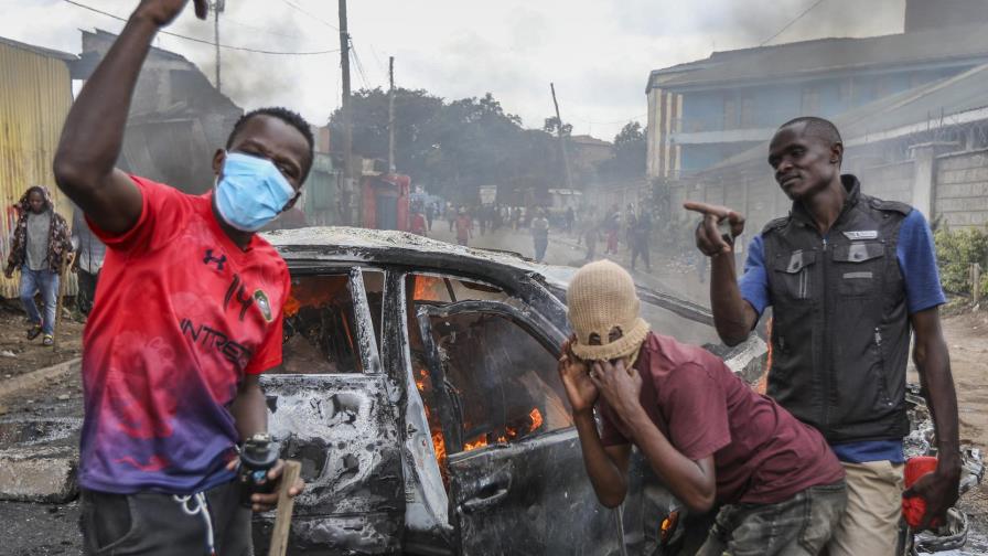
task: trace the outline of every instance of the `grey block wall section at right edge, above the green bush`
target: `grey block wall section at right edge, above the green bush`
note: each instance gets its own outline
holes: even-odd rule
[[[951,228],[988,224],[988,150],[936,159],[934,214]]]

